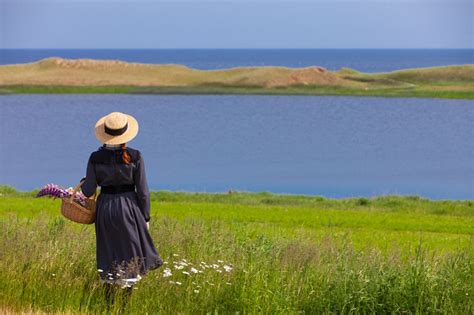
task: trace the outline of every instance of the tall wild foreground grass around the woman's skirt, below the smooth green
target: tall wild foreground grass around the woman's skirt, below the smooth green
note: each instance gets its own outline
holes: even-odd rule
[[[403,254],[357,251],[350,239],[306,242],[230,231],[220,221],[160,218],[151,233],[167,265],[133,290],[127,313],[451,313],[474,311],[472,248],[438,255],[423,247]],[[95,266],[93,226],[61,217],[18,219],[0,229],[1,305],[12,311],[107,309]],[[178,255],[178,256],[174,256]],[[223,264],[190,276],[174,269]],[[222,262],[219,262],[222,261]],[[163,276],[169,266],[173,275]],[[199,267],[197,267],[199,268]],[[202,268],[200,268],[202,269]],[[181,285],[170,283],[181,282]],[[195,290],[199,292],[195,292]],[[112,311],[120,308],[120,290]]]

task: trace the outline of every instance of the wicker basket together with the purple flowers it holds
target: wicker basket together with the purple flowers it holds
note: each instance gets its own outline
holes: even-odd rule
[[[83,182],[74,188],[63,189],[55,184],[48,184],[41,189],[36,197],[49,196],[61,199],[61,213],[67,219],[81,223],[91,224],[95,221],[95,196],[86,198],[79,191]]]

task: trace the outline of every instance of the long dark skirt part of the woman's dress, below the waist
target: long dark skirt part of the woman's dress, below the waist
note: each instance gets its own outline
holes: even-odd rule
[[[101,280],[123,284],[163,265],[135,192],[100,194],[94,224]]]

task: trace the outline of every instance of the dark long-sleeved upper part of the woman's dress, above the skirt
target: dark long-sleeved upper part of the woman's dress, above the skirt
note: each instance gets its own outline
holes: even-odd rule
[[[145,221],[150,221],[150,192],[145,175],[145,164],[140,151],[127,148],[130,164],[122,160],[121,148],[100,147],[92,152],[87,162],[82,192],[86,197],[94,194],[97,186],[118,186],[134,184],[138,205]]]

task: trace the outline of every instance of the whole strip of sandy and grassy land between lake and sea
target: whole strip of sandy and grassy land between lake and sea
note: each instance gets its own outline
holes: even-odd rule
[[[48,58],[0,66],[0,94],[346,95],[474,99],[474,64],[362,73]]]

